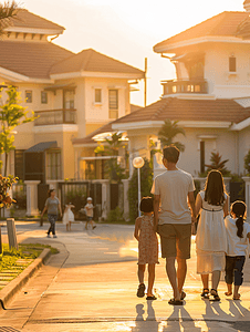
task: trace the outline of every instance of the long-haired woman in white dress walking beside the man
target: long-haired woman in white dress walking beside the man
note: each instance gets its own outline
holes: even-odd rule
[[[197,236],[197,273],[201,276],[204,291],[201,298],[209,299],[209,273],[211,278],[210,294],[213,301],[220,301],[218,284],[225,270],[227,252],[227,232],[223,218],[228,215],[228,195],[219,170],[211,170],[207,176],[205,190],[196,198],[196,212],[200,214]]]

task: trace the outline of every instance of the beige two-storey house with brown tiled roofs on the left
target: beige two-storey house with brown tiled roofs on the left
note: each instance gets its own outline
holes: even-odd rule
[[[132,85],[144,72],[92,49],[75,54],[53,44],[64,28],[28,10],[0,41],[0,82],[21,92],[39,117],[17,127],[9,170],[25,180],[79,178],[73,138],[131,113]],[[4,93],[3,93],[4,95]]]

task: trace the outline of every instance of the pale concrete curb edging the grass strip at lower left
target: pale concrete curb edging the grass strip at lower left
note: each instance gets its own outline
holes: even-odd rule
[[[15,279],[10,281],[1,291],[0,291],[0,311],[6,310],[4,305],[14,297],[14,294],[29,281],[29,279],[39,270],[42,264],[51,256],[51,250],[45,248],[41,255],[25,269],[20,273]]]

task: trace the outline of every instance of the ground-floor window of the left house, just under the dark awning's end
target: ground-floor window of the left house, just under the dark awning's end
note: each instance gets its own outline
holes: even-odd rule
[[[46,152],[46,179],[61,179],[61,151]]]

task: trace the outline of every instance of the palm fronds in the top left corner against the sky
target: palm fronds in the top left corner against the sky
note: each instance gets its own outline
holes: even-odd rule
[[[0,35],[6,33],[4,29],[11,24],[11,19],[17,19],[20,10],[21,8],[14,0],[0,3]]]

